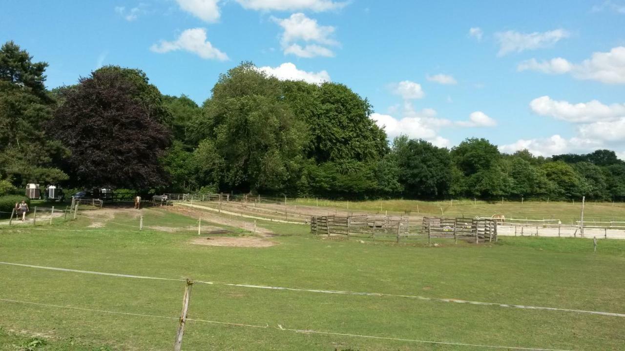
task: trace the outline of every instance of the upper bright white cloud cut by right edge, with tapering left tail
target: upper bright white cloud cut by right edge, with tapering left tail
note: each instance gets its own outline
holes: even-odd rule
[[[549,74],[570,72],[576,79],[625,84],[625,46],[613,47],[609,52],[594,52],[591,58],[579,64],[572,64],[561,57],[542,62],[531,59],[521,62],[517,69]]]

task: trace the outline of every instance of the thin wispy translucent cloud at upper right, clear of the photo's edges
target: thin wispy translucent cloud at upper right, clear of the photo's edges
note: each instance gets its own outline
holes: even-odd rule
[[[556,42],[561,39],[569,37],[569,35],[569,32],[564,29],[527,34],[517,31],[497,32],[495,33],[495,38],[497,42],[499,42],[499,52],[497,56],[504,56],[510,52],[522,52],[549,47],[556,44]]]

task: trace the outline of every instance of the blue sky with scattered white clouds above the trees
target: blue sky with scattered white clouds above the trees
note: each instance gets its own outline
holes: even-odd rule
[[[138,67],[198,103],[241,61],[367,97],[389,136],[625,157],[625,1],[4,1],[47,85]]]

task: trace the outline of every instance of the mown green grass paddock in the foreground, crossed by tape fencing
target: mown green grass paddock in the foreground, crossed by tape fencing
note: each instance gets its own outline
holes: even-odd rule
[[[351,206],[351,204],[350,204]],[[96,212],[94,212],[96,213]],[[144,225],[196,219],[144,210]],[[32,230],[0,227],[0,261],[144,275],[461,299],[625,314],[625,241],[502,237],[438,247],[312,237],[304,225],[263,223],[267,248],[190,244],[192,230],[143,230],[117,214],[88,228],[79,217]],[[116,222],[113,224],[112,222]],[[224,227],[216,225],[216,227]],[[54,229],[54,230],[47,230]],[[247,232],[224,227],[229,234]],[[184,282],[59,272],[0,264],[0,350],[171,350]],[[195,284],[184,350],[481,350],[337,334],[562,350],[619,350],[625,317],[458,304],[392,296],[324,294]],[[33,339],[35,338],[35,339]],[[37,344],[37,342],[35,342]]]

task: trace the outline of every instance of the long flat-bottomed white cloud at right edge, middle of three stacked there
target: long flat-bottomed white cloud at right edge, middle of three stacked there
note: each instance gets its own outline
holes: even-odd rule
[[[532,100],[529,107],[541,116],[551,116],[574,123],[614,121],[619,117],[625,117],[625,104],[605,105],[597,100],[571,104],[568,101],[555,101],[549,96],[541,96]]]

